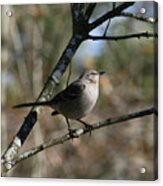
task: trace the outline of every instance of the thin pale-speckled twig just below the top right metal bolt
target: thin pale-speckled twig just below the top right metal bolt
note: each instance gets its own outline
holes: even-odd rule
[[[142,17],[142,16],[139,16],[137,14],[130,13],[130,12],[120,12],[119,14],[117,14],[117,16],[129,17],[129,18],[133,18],[133,19],[136,19],[136,20],[139,20],[139,21],[144,21],[144,22],[151,23],[151,24],[154,24],[154,23],[158,22],[157,19],[154,19],[152,17],[149,17],[149,18],[148,17]]]

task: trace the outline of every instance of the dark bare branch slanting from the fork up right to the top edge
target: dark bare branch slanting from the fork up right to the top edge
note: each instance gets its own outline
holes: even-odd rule
[[[107,19],[111,19],[111,18],[115,17],[120,12],[122,12],[123,10],[125,10],[128,7],[132,6],[133,4],[134,4],[134,2],[123,3],[123,4],[119,5],[119,6],[117,6],[116,8],[114,8],[113,10],[108,11],[103,16],[101,16],[100,18],[96,19],[94,22],[90,23],[89,24],[89,30],[93,30],[94,28],[96,28],[97,26],[99,26],[100,24],[105,22]]]

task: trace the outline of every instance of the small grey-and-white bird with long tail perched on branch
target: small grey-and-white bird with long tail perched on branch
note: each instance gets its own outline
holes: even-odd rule
[[[96,104],[99,96],[99,79],[102,74],[104,74],[103,71],[87,70],[52,100],[23,103],[15,105],[13,108],[50,106],[55,110],[52,115],[62,114],[65,116],[68,129],[70,129],[68,119],[78,120],[88,127],[88,124],[82,121],[81,118],[86,116]]]

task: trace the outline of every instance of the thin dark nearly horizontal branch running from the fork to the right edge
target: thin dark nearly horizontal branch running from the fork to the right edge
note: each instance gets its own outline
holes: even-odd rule
[[[89,35],[88,39],[118,41],[118,40],[133,39],[133,38],[140,39],[143,37],[144,38],[158,37],[158,34],[150,33],[150,32],[140,32],[140,33],[134,33],[134,34],[128,34],[128,35],[122,35],[122,36],[91,36]]]

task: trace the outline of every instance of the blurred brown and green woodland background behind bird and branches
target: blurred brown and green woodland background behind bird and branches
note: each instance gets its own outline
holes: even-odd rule
[[[118,4],[118,3],[117,3]],[[145,8],[144,14],[140,13]],[[112,9],[112,3],[100,3],[91,21]],[[8,17],[6,11],[11,11]],[[151,2],[137,2],[127,9],[144,17],[153,17]],[[2,153],[19,130],[28,108],[12,106],[34,101],[62,54],[72,34],[69,4],[3,5],[1,9],[1,131]],[[107,23],[91,34],[102,35]],[[154,26],[131,18],[117,17],[107,35],[154,32]],[[105,70],[101,78],[100,98],[84,120],[95,123],[109,117],[139,111],[154,105],[154,39],[121,41],[85,41],[72,60],[71,80],[84,69]],[[66,86],[68,70],[56,94]],[[67,132],[64,117],[51,116],[42,108],[39,122],[20,152]],[[72,128],[81,127],[75,121]],[[8,176],[80,178],[80,179],[154,179],[153,115],[94,131],[92,136],[51,147],[14,167]],[[146,168],[141,174],[140,169]]]

